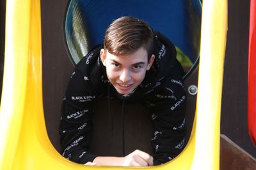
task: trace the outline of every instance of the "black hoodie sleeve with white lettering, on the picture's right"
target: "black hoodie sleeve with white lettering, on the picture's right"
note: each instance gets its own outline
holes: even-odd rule
[[[166,77],[150,103],[154,165],[164,164],[184,148],[186,92],[182,78]]]

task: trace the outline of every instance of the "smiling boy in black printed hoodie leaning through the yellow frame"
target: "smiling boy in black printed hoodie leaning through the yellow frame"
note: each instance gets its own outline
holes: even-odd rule
[[[186,92],[175,57],[173,44],[143,20],[121,17],[109,25],[104,45],[77,64],[68,84],[61,108],[62,155],[80,164],[102,166],[153,166],[176,157],[184,148]],[[102,96],[150,108],[153,155],[141,150],[124,157],[88,152],[93,101]],[[76,117],[71,117],[74,113]]]

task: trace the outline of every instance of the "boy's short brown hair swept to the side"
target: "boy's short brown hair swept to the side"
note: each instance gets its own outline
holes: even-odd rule
[[[106,30],[104,48],[113,55],[126,55],[143,47],[147,50],[149,59],[153,52],[153,42],[153,31],[145,21],[120,17]]]

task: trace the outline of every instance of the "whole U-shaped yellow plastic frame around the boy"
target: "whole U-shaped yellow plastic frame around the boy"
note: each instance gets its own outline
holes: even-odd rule
[[[198,103],[189,143],[180,155],[149,169],[219,169],[220,104],[227,0],[204,1]],[[56,152],[42,106],[40,1],[7,0],[0,108],[0,169],[136,169],[83,166]]]

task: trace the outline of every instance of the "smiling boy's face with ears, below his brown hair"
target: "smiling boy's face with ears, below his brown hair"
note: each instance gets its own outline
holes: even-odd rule
[[[101,60],[106,67],[107,76],[116,91],[130,94],[145,78],[146,71],[154,62],[154,55],[148,60],[147,50],[139,48],[129,55],[116,56],[108,50],[100,50]]]

